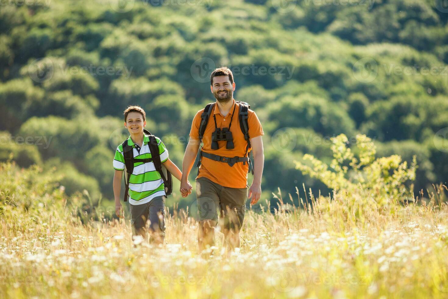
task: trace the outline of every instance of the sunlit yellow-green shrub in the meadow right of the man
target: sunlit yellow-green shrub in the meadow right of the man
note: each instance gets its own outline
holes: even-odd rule
[[[346,198],[353,200],[350,204],[354,204],[355,199],[373,200],[380,206],[392,201],[414,200],[410,191],[412,186],[409,189],[405,183],[415,179],[415,156],[410,167],[406,161],[401,163],[398,155],[375,159],[375,145],[365,135],[356,136],[354,151],[347,147],[349,139],[344,134],[332,138],[332,142],[332,170],[308,154],[303,158],[310,160],[312,166],[296,162],[296,168],[318,178],[336,193],[343,191]]]

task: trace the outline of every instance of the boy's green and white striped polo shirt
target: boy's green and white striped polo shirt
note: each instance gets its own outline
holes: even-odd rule
[[[160,161],[163,163],[168,160],[168,150],[159,138],[156,137],[155,139],[159,145]],[[134,153],[134,171],[129,178],[129,204],[146,204],[157,196],[165,195],[164,181],[160,177],[160,173],[155,170],[154,163],[142,163],[136,161],[138,159],[151,158],[151,151],[148,143],[149,137],[144,134],[143,146],[140,149],[140,152],[138,152],[136,145],[130,136],[128,139],[128,144],[133,147]],[[113,168],[116,170],[125,169],[122,144],[116,148]]]

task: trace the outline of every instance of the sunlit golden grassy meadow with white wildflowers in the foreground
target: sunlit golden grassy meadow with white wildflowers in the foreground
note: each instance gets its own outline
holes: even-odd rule
[[[358,161],[338,144],[343,137],[333,139],[333,169],[344,163],[338,153],[351,159],[354,177],[383,162],[384,158],[369,158],[372,143],[362,137],[358,149],[363,159]],[[313,163],[324,177],[325,167]],[[391,168],[394,180],[400,171],[410,176],[415,171],[405,163],[391,167],[396,168]],[[131,239],[129,217],[109,221],[108,209],[92,206],[88,192],[67,198],[52,173],[37,166],[20,169],[13,162],[1,164],[0,171],[5,174],[0,177],[2,298],[448,295],[444,185],[415,198],[397,196],[386,192],[388,186],[405,186],[380,171],[383,179],[371,173],[369,181],[357,187],[352,180],[331,198],[297,188],[294,196],[300,206],[293,204],[292,195],[282,198],[279,190],[273,194],[280,203],[274,213],[268,202],[267,208],[257,204],[246,212],[239,250],[226,250],[223,235],[216,231],[216,247],[201,253],[194,211],[167,207],[165,244],[155,248]],[[339,174],[344,171],[332,172],[341,185]],[[375,187],[380,181],[386,184],[383,189]],[[384,198],[390,200],[383,202]]]

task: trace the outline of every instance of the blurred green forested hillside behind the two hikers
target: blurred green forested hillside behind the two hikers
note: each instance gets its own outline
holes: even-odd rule
[[[329,138],[340,133],[366,134],[377,156],[416,155],[415,191],[446,183],[443,3],[8,2],[0,7],[0,160],[55,168],[66,193],[112,199],[123,110],[141,105],[147,129],[180,166],[194,114],[215,100],[211,70],[227,65],[235,99],[263,124],[263,202],[277,187],[330,191],[293,161],[309,153],[329,162]],[[190,205],[194,193],[182,200]]]

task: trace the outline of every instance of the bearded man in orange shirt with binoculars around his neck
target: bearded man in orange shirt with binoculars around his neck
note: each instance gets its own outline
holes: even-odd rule
[[[212,110],[208,114],[207,126],[201,136],[203,142],[201,166],[196,178],[200,215],[198,244],[200,251],[207,246],[215,245],[214,229],[219,220],[216,209],[219,209],[221,231],[224,233],[226,243],[233,250],[235,247],[240,247],[239,232],[246,211],[247,198],[252,198],[250,204],[256,204],[261,195],[264,164],[263,128],[257,115],[249,109],[247,116],[249,138],[246,140],[239,119],[239,108],[242,104],[233,99],[235,82],[230,69],[227,67],[215,69],[210,76],[210,84],[216,103],[210,108]],[[188,175],[201,142],[199,127],[203,112],[204,109],[199,110],[193,119],[190,141],[182,163],[181,190],[189,190],[190,193]],[[231,134],[219,134],[225,131],[230,131]],[[216,136],[220,137],[216,139]],[[249,195],[247,194],[250,151],[248,141],[254,154],[254,180],[249,188]],[[229,160],[226,157],[238,158]]]

